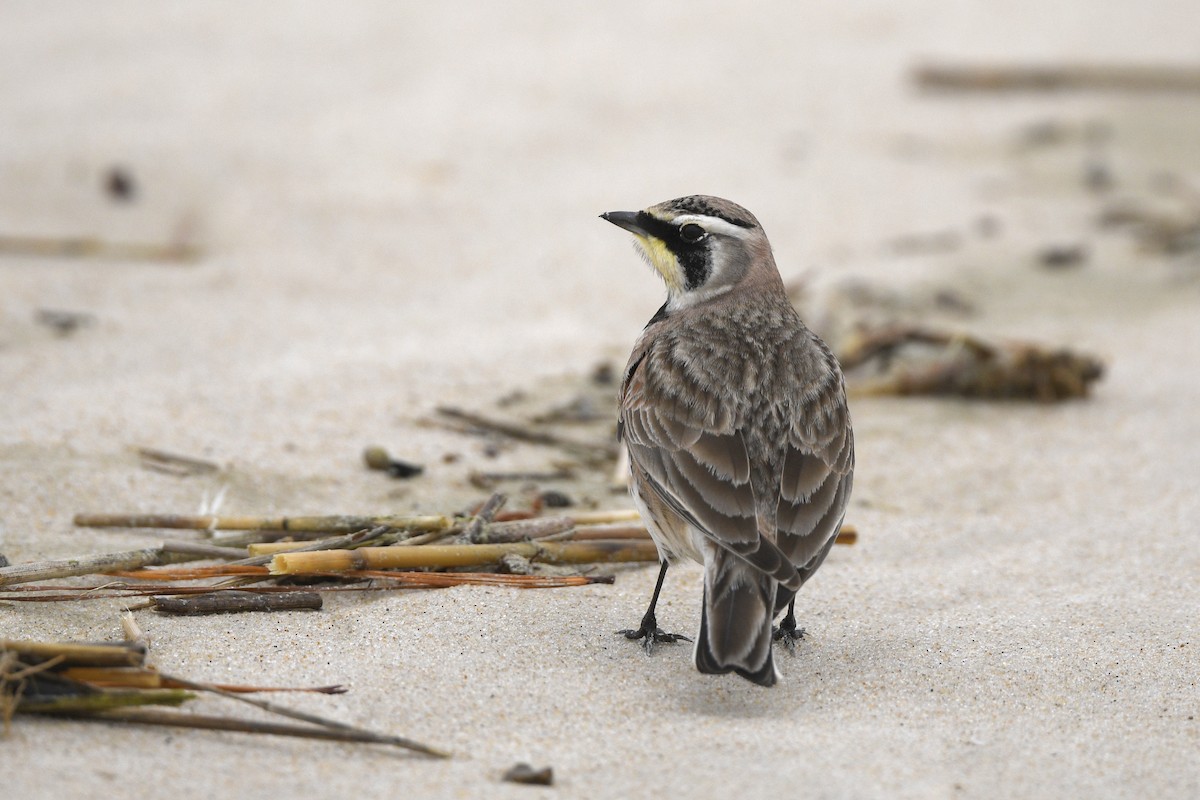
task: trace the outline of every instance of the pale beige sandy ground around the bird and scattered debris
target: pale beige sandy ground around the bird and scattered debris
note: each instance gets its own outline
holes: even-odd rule
[[[479,499],[479,441],[419,420],[620,361],[661,287],[595,216],[679,194],[757,212],[787,277],[949,285],[979,308],[962,325],[1109,372],[1058,407],[856,402],[860,543],[805,588],[811,636],[773,690],[614,637],[649,569],[319,614],[140,612],[163,669],[346,684],[294,703],[456,758],[22,718],[0,794],[1196,796],[1200,263],[1094,219],[1115,197],[1194,201],[1200,98],[907,80],[935,56],[1187,62],[1194,22],[1183,0],[4,4],[0,234],[204,248],[193,265],[0,257],[14,563],[155,541],[77,530],[78,511],[196,511],[222,489],[230,513]],[[1057,133],[1031,140],[1045,122]],[[1097,157],[1103,196],[1082,185]],[[113,164],[136,201],[101,191]],[[943,231],[949,252],[888,245]],[[1082,266],[1038,269],[1039,248],[1080,242]],[[40,308],[95,324],[58,336]],[[364,470],[372,441],[428,473]],[[227,469],[161,475],[138,445]],[[666,627],[695,626],[700,582],[673,571]],[[0,603],[0,636],[108,639],[119,608]],[[557,786],[500,783],[517,760]]]

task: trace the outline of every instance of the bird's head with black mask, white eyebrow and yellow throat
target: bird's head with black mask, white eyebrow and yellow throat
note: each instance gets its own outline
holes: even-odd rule
[[[736,203],[692,194],[600,216],[634,234],[638,251],[667,284],[670,311],[722,295],[760,271],[778,279],[762,225]]]

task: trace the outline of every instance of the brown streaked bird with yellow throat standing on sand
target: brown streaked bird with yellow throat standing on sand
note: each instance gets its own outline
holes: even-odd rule
[[[660,557],[640,626],[618,633],[647,652],[692,640],[659,628],[654,610],[667,567],[690,558],[704,569],[696,668],[772,686],[773,645],[803,638],[796,593],[828,555],[853,486],[841,367],[740,205],[694,194],[600,217],[634,234],[667,290],[618,395],[630,493]]]

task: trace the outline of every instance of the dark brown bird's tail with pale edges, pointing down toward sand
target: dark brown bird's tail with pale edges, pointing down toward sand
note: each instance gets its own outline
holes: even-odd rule
[[[772,686],[779,678],[770,648],[775,581],[737,555],[714,549],[704,563],[696,669],[714,675],[736,672]]]

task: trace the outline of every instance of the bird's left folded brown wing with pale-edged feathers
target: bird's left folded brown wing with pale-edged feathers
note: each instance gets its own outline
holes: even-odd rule
[[[720,547],[796,590],[791,559],[758,530],[750,459],[739,431],[713,413],[715,398],[689,386],[688,399],[644,380],[642,361],[622,389],[620,435],[648,488]]]

